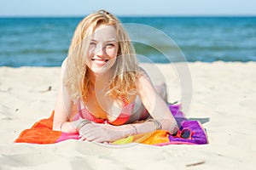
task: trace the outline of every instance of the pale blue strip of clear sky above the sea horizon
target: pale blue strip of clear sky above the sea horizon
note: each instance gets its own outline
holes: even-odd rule
[[[256,16],[255,0],[0,0],[0,17],[84,16],[102,8],[119,16]]]

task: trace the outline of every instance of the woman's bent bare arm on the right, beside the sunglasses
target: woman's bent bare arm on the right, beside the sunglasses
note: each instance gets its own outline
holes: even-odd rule
[[[166,101],[156,92],[150,78],[143,70],[138,78],[137,86],[138,94],[143,105],[149,112],[150,116],[152,116],[153,120],[151,119],[150,121],[131,123],[113,128],[123,132],[125,135],[148,133],[158,129],[159,127],[172,132],[173,128],[177,127],[177,122],[166,105]],[[160,124],[154,121],[160,122]]]

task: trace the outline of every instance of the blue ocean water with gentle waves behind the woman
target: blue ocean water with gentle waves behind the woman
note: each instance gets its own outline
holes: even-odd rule
[[[0,66],[60,66],[82,18],[0,18]],[[256,17],[119,17],[171,37],[189,62],[256,61]],[[150,35],[148,35],[150,38]],[[160,44],[161,45],[161,44]],[[165,44],[163,44],[165,45]],[[137,54],[169,62],[135,43]]]

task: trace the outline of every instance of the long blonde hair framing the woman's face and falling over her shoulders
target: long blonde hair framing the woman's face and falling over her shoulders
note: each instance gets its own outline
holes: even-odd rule
[[[90,14],[80,21],[74,31],[67,56],[66,72],[63,83],[68,94],[74,101],[83,99],[86,101],[90,91],[90,77],[88,77],[86,59],[87,49],[90,44],[90,36],[97,26],[114,26],[119,42],[118,57],[113,65],[113,78],[109,82],[108,95],[113,99],[125,97],[137,93],[137,57],[125,29],[120,21],[105,10]]]

